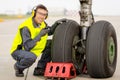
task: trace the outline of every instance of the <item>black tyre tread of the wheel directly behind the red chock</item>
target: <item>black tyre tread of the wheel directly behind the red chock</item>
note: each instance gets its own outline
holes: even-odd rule
[[[79,24],[73,20],[56,28],[52,41],[53,62],[72,62],[72,44],[76,35],[79,35]]]

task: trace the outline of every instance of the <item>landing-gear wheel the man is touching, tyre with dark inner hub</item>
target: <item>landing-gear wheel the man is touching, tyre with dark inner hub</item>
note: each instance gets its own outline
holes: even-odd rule
[[[85,56],[73,46],[80,40],[80,33],[80,25],[73,20],[67,20],[56,28],[51,47],[52,62],[73,63],[77,75],[82,73]],[[79,43],[76,46],[80,47],[78,45]]]

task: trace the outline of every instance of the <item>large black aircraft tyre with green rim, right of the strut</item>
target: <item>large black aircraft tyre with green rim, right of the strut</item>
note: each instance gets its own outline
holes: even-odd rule
[[[91,77],[113,76],[117,62],[117,38],[109,22],[97,21],[90,27],[86,41],[86,62]]]

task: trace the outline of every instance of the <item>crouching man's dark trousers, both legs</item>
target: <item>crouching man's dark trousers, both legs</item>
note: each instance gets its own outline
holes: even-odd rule
[[[17,61],[15,66],[21,70],[30,67],[37,59],[36,55],[25,50],[16,50],[12,53],[12,57]],[[47,41],[42,56],[38,61],[37,67],[45,69],[46,64],[51,61],[51,40]]]

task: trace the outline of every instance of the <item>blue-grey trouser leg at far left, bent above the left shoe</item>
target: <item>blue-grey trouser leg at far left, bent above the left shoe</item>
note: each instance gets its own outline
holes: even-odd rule
[[[36,55],[25,50],[14,51],[12,57],[16,60],[15,66],[21,70],[30,67],[37,59]]]

